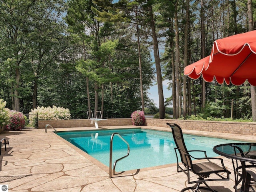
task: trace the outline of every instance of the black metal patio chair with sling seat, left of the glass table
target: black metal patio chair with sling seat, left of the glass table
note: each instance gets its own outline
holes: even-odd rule
[[[203,189],[203,190],[208,190],[212,192],[217,192],[216,190],[212,190],[206,182],[208,181],[220,181],[220,180],[229,180],[229,175],[230,172],[224,167],[223,160],[221,158],[208,158],[206,155],[206,151],[201,151],[201,150],[190,150],[188,151],[184,142],[184,138],[182,135],[182,130],[180,126],[177,124],[169,124],[167,123],[172,128],[172,135],[174,138],[174,142],[176,144],[175,153],[176,153],[176,158],[177,158],[177,172],[184,172],[187,177],[188,177],[188,184],[193,184],[195,183],[194,186],[187,187],[182,189],[181,192],[184,192],[186,190],[194,190],[195,192],[198,191],[198,189]],[[179,165],[178,162],[178,153],[180,154],[180,159],[182,164],[184,165],[184,168],[182,168]],[[203,152],[204,157],[203,158],[195,158],[190,155],[190,152]],[[196,160],[206,160],[206,162],[197,162],[193,163],[192,158]],[[220,161],[219,164],[222,166],[219,166],[210,160],[218,160]],[[180,170],[179,170],[180,169]],[[193,180],[191,181],[190,174],[196,174],[198,176],[198,180]],[[212,177],[210,176],[211,174],[215,174],[216,176]],[[222,174],[226,174],[226,176],[222,176]],[[200,184],[204,183],[206,187],[200,186]]]

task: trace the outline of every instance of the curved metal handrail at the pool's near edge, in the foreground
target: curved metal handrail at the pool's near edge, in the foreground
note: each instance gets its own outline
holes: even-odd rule
[[[119,158],[118,160],[116,160],[114,162],[114,165],[113,165],[113,175],[116,174],[116,163],[123,159],[123,158],[126,158],[129,154],[130,154],[130,145],[128,144],[128,142],[119,134],[119,133],[113,133],[111,135],[111,138],[110,138],[110,153],[109,153],[109,178],[112,177],[112,151],[113,151],[113,138],[114,136],[117,135],[120,139],[123,140],[123,142],[125,142],[127,144],[127,154],[121,158]]]

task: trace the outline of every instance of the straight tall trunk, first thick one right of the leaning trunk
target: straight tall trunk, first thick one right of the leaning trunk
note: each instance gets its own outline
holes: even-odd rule
[[[180,114],[180,79],[179,79],[179,64],[180,64],[180,48],[179,48],[179,28],[178,28],[178,1],[175,5],[174,26],[175,26],[175,82],[176,82],[176,106],[175,118],[179,118]]]

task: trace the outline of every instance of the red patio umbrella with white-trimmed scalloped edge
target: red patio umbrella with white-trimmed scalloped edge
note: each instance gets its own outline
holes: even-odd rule
[[[256,86],[256,30],[214,41],[212,52],[184,68],[184,75],[219,84],[241,85],[246,80]]]

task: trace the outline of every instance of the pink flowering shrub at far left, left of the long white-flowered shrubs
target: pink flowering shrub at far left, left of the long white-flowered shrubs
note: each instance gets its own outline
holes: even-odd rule
[[[10,111],[10,120],[6,126],[6,129],[9,131],[17,131],[24,129],[25,127],[25,117],[21,112],[14,110]]]

